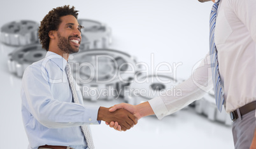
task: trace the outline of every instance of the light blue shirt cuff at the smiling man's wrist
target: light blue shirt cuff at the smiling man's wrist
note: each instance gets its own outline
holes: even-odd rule
[[[101,120],[97,120],[99,112],[99,106],[97,107],[85,107],[85,119],[84,122],[92,124],[101,124]]]

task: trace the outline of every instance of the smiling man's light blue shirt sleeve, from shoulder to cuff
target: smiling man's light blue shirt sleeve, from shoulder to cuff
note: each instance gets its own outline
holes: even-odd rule
[[[22,108],[32,118],[49,128],[99,124],[97,122],[99,107],[83,107],[82,104],[71,103],[72,96],[68,96],[70,94],[59,92],[58,96],[54,96],[53,92],[58,90],[53,91],[45,78],[48,76],[41,73],[41,67],[31,66],[24,72],[21,91]],[[64,87],[59,90],[62,89]]]

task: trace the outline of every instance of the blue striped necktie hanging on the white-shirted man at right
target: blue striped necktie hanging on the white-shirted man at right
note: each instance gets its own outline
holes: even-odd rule
[[[224,103],[224,88],[220,84],[220,74],[218,72],[218,51],[215,46],[214,34],[215,34],[215,24],[216,24],[216,16],[218,10],[218,4],[213,4],[213,8],[211,9],[210,15],[210,57],[211,57],[211,71],[213,73],[213,88],[215,91],[215,101],[217,108],[220,112],[222,112],[222,105]]]

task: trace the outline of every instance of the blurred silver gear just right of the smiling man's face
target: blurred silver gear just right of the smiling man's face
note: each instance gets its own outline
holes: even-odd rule
[[[95,48],[109,48],[112,42],[111,29],[107,25],[89,19],[78,19],[82,29],[80,51]]]

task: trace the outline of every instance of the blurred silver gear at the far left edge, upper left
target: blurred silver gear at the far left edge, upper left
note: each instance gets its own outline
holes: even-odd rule
[[[1,27],[0,40],[10,46],[24,46],[38,42],[39,23],[20,20],[6,23]]]

